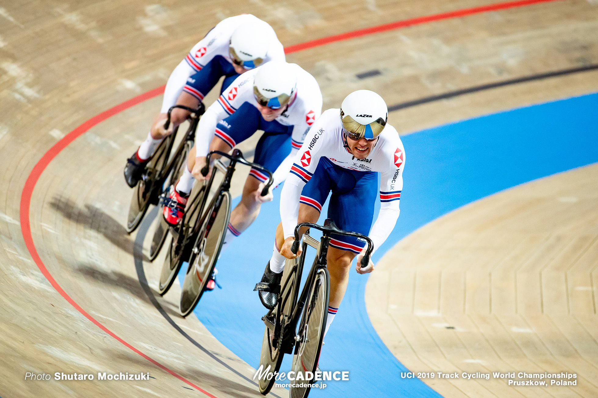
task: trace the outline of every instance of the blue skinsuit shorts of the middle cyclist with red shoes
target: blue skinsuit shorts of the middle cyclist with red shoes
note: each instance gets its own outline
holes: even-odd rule
[[[230,108],[234,109],[231,106]],[[239,106],[239,109],[234,109],[234,113],[229,117],[218,122],[216,137],[233,148],[251,137],[257,130],[263,130],[264,134],[255,146],[254,163],[274,173],[274,170],[291,153],[292,125],[282,125],[276,120],[266,121],[255,106],[245,102]],[[268,173],[258,169],[252,168],[249,175],[261,182],[268,180]]]

